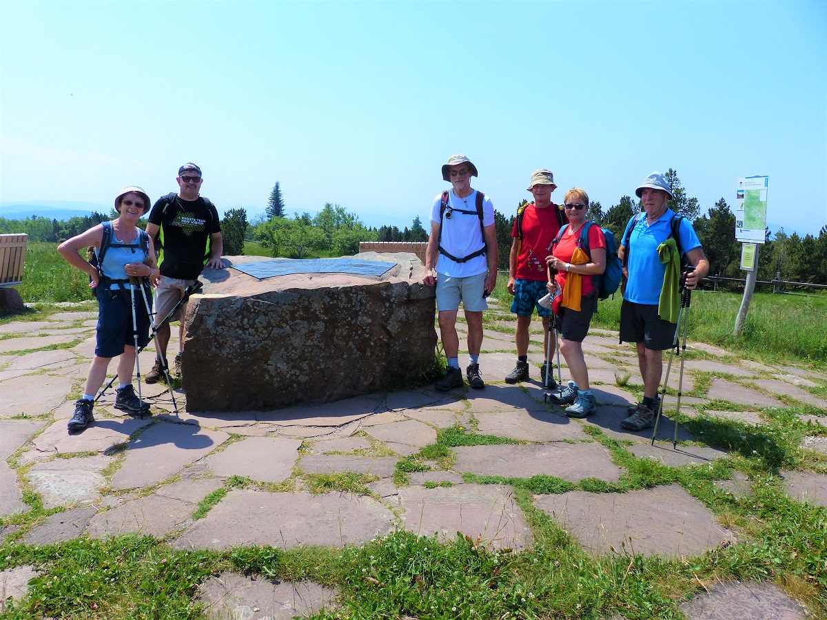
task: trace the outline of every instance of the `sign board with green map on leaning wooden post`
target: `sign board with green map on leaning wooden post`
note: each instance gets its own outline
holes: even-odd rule
[[[753,299],[755,281],[758,279],[758,244],[766,238],[769,184],[767,176],[744,177],[738,179],[738,188],[735,190],[735,239],[743,243],[741,269],[747,272],[741,308],[735,317],[735,336],[741,332],[749,303]]]

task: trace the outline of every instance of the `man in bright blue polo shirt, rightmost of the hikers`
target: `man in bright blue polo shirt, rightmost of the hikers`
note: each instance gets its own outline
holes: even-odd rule
[[[675,212],[667,207],[672,188],[667,178],[653,172],[636,190],[643,212],[632,217],[619,255],[624,259],[628,281],[620,308],[620,341],[638,346],[638,365],[643,376],[643,401],[629,409],[620,426],[630,431],[653,427],[657,407],[657,387],[663,372],[662,351],[672,348],[676,323],[658,314],[667,265],[661,262],[658,246],[672,232]],[[710,270],[704,250],[690,222],[681,219],[677,246],[694,269],[686,275],[686,289],[695,289]],[[669,317],[672,318],[672,317]]]

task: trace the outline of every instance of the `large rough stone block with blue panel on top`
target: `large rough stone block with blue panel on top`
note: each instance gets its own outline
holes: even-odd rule
[[[416,255],[354,258],[381,276],[293,274],[263,280],[206,269],[187,311],[182,374],[189,411],[325,403],[398,384],[433,365],[436,298]],[[233,265],[266,260],[225,257]],[[287,260],[287,259],[284,259]]]

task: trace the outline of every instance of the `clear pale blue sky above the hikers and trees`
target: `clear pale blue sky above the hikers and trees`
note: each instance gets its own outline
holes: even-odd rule
[[[428,226],[464,153],[514,213],[534,169],[618,203],[676,169],[702,212],[768,174],[827,223],[827,2],[0,0],[0,201],[108,207],[203,169],[219,212],[339,203]],[[2,215],[2,209],[0,209]]]

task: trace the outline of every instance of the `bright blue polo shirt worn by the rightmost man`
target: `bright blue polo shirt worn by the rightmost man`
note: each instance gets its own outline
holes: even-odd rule
[[[645,212],[636,215],[632,222],[629,222],[629,227],[632,227],[626,247],[629,257],[627,260],[629,281],[626,283],[623,295],[627,301],[651,305],[657,305],[660,302],[667,266],[661,263],[657,255],[657,246],[666,241],[672,231],[672,217],[675,217],[675,212],[667,209],[651,225],[646,223]],[[695,229],[686,217],[681,220],[678,237],[684,254],[700,247],[700,240]],[[625,232],[623,238],[626,238]]]

